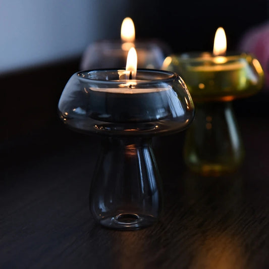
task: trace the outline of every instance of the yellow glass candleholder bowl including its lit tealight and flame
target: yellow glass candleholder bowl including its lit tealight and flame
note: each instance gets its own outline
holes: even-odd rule
[[[213,53],[171,55],[162,68],[180,74],[196,101],[246,97],[259,91],[263,83],[263,71],[257,59],[246,53],[226,53],[222,27],[216,32]]]

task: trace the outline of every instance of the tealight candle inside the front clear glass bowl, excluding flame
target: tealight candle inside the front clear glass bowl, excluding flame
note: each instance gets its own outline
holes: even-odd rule
[[[119,88],[88,89],[92,107],[89,117],[106,122],[150,122],[170,116],[173,111],[169,107],[177,107],[176,113],[184,113],[179,100],[174,99],[174,91],[171,87],[137,88],[143,87],[140,86],[146,83],[143,80],[116,83]],[[180,114],[178,116],[180,117]]]

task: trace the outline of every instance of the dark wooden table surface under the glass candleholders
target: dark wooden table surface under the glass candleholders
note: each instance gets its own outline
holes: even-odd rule
[[[234,174],[190,173],[184,132],[153,139],[165,203],[142,230],[105,229],[90,215],[101,138],[59,120],[4,141],[0,268],[269,268],[269,99],[251,98],[237,105],[246,157]]]

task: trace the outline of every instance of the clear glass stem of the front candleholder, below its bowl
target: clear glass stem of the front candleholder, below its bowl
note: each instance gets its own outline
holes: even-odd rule
[[[160,184],[151,139],[110,137],[91,182],[91,213],[113,229],[149,226],[162,208]]]

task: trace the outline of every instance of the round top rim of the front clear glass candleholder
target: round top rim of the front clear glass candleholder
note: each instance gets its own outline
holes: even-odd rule
[[[74,74],[74,76],[76,76],[79,80],[82,80],[84,82],[88,82],[88,83],[98,83],[98,84],[107,84],[109,83],[110,85],[121,85],[123,82],[128,82],[128,79],[121,79],[121,80],[105,80],[105,79],[92,79],[92,78],[88,78],[88,77],[82,77],[82,74],[89,74],[91,72],[100,72],[105,74],[107,73],[116,73],[119,71],[126,71],[125,69],[116,69],[116,68],[100,68],[100,69],[90,69],[90,70],[82,70],[82,71],[78,71]],[[138,68],[137,69],[137,73],[136,73],[136,77],[142,74],[148,74],[148,75],[165,75],[165,77],[158,77],[156,76],[155,79],[138,79],[136,80],[136,86],[137,85],[156,85],[158,83],[169,83],[171,81],[174,81],[175,79],[179,79],[179,75],[175,72],[172,71],[167,71],[167,70],[160,70],[160,69],[146,69],[146,68]]]

